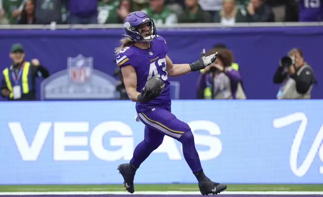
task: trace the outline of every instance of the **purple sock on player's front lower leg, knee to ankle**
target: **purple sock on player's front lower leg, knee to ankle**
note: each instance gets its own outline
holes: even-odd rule
[[[185,158],[187,164],[189,164],[192,172],[194,173],[194,172],[198,172],[198,171],[202,170],[199,153],[195,148],[194,136],[193,136],[192,131],[185,132],[181,136],[179,141],[183,145],[184,158]]]

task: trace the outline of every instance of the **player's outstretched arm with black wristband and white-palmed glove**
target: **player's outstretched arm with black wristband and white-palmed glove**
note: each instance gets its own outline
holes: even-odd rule
[[[206,66],[212,64],[218,52],[209,56],[205,56],[205,49],[203,49],[200,58],[191,64],[173,64],[171,58],[166,55],[166,67],[169,76],[181,76],[191,71],[198,71],[204,69]]]

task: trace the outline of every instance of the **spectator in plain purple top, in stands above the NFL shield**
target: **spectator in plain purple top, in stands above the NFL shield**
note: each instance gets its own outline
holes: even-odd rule
[[[98,0],[69,0],[69,24],[97,24]]]

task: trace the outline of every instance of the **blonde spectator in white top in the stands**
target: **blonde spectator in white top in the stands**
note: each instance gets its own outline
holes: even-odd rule
[[[234,25],[235,23],[246,23],[247,12],[238,9],[235,0],[223,0],[222,10],[214,17],[215,23],[222,25]]]

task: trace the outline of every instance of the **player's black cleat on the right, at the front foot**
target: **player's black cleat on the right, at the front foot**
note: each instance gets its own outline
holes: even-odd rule
[[[208,177],[205,177],[199,182],[199,188],[202,195],[218,194],[227,189],[227,185],[213,182]]]

